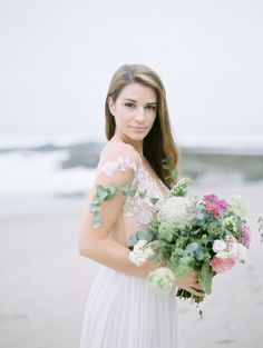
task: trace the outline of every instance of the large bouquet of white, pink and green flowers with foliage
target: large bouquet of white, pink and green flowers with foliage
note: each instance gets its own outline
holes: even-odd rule
[[[188,196],[189,183],[191,179],[183,178],[173,186],[150,228],[129,240],[135,265],[150,258],[160,266],[147,277],[155,292],[171,291],[176,277],[195,270],[204,296],[208,295],[215,275],[245,261],[251,231],[244,200],[240,196],[225,200],[214,193]],[[204,299],[183,289],[177,296],[197,304]]]

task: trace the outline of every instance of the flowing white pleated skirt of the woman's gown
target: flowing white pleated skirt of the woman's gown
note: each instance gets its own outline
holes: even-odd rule
[[[183,348],[175,291],[100,266],[84,312],[80,348]]]

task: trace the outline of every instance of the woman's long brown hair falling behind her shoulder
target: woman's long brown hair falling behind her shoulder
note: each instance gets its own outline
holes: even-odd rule
[[[115,102],[121,89],[134,82],[152,87],[157,95],[157,115],[149,133],[144,139],[144,156],[158,178],[169,188],[178,178],[171,176],[171,169],[178,171],[179,152],[173,139],[164,84],[150,68],[143,64],[124,64],[113,76],[105,102],[106,137],[110,140],[116,128],[115,118],[108,106],[109,97]]]

